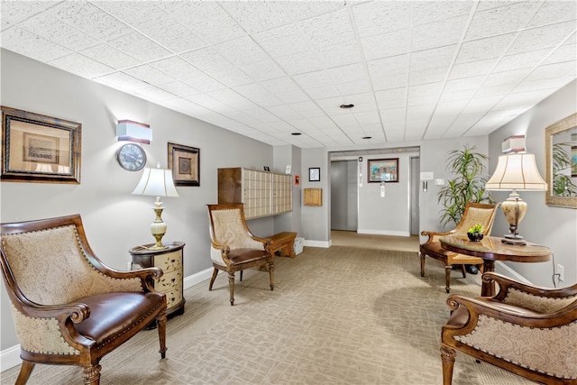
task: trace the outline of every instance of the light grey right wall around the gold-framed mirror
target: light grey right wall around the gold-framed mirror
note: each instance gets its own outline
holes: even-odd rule
[[[495,170],[500,155],[501,142],[514,134],[525,134],[527,152],[535,154],[537,168],[545,179],[545,128],[564,117],[577,112],[577,81],[563,87],[554,95],[529,109],[525,114],[504,125],[489,136],[490,170]],[[498,200],[505,200],[508,192],[495,191]],[[577,282],[577,210],[545,204],[545,193],[519,191],[527,202],[527,214],[519,224],[519,234],[527,241],[543,244],[554,252],[554,262],[520,263],[507,265],[530,282],[552,287],[553,263],[564,267],[565,280],[559,286],[571,286]],[[507,234],[508,224],[499,213],[493,227],[493,234]]]

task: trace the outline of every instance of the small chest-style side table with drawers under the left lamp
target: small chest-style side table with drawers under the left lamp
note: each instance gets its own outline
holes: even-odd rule
[[[154,289],[166,294],[167,316],[184,313],[182,251],[183,242],[165,242],[166,249],[151,250],[154,243],[130,249],[133,264],[143,268],[158,267],[164,271],[160,280],[154,280]]]

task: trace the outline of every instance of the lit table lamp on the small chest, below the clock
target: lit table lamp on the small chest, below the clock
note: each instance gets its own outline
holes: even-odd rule
[[[156,239],[156,244],[149,247],[149,249],[165,249],[167,246],[163,245],[161,240],[166,234],[167,225],[162,221],[161,215],[164,206],[160,202],[160,197],[179,197],[172,180],[172,171],[160,169],[160,163],[158,163],[156,169],[144,168],[141,181],[134,188],[133,194],[156,196],[156,202],[154,202],[154,207],[152,207],[154,213],[156,213],[156,219],[151,225],[151,233]]]

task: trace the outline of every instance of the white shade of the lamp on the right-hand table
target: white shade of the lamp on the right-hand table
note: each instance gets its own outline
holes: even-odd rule
[[[547,184],[539,175],[534,154],[514,153],[499,156],[497,169],[485,189],[546,191]]]

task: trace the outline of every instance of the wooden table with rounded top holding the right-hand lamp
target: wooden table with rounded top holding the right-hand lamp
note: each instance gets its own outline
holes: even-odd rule
[[[469,241],[466,235],[446,235],[439,239],[441,247],[450,252],[472,255],[483,259],[484,271],[495,271],[495,261],[544,262],[551,258],[551,250],[535,243],[527,245],[502,243],[497,236],[486,236],[479,242]],[[482,297],[495,295],[495,282],[484,282]]]

